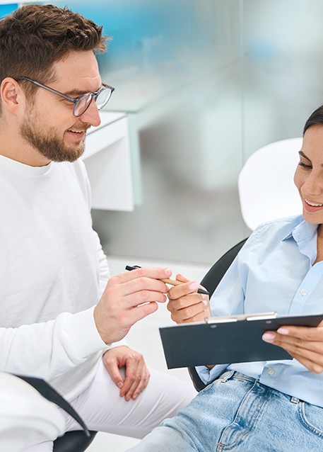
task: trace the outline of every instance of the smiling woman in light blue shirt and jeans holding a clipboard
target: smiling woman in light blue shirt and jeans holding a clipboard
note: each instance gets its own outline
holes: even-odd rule
[[[213,294],[211,315],[323,312],[323,106],[307,120],[299,154],[294,181],[303,215],[266,222],[252,233]],[[172,319],[204,320],[210,310],[203,295],[178,278],[185,283],[170,289]],[[281,327],[262,339],[293,360],[200,366],[206,389],[131,451],[322,450],[323,322]]]

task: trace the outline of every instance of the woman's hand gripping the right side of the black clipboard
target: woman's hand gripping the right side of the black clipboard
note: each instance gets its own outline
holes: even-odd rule
[[[262,339],[288,351],[309,371],[323,371],[323,322],[318,327],[280,327],[264,333]]]

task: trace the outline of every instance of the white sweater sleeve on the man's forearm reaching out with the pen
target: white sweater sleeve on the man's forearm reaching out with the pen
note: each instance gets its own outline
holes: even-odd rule
[[[108,347],[95,327],[93,307],[56,320],[0,328],[0,368],[52,380]]]

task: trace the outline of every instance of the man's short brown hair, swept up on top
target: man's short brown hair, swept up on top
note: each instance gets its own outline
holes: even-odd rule
[[[106,50],[102,27],[68,8],[26,5],[0,20],[0,84],[6,77],[52,81],[52,65],[71,51]],[[25,85],[31,94],[35,86]]]

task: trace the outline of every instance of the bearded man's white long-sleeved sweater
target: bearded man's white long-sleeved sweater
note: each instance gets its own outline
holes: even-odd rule
[[[0,155],[0,213],[0,371],[45,378],[72,400],[107,349],[93,307],[109,274],[83,162]]]

